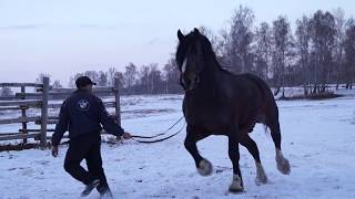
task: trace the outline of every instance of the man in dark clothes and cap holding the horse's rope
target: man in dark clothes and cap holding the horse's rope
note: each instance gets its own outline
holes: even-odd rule
[[[88,196],[97,188],[101,196],[112,197],[103,168],[100,153],[103,128],[118,137],[129,139],[131,135],[124,133],[108,114],[102,101],[92,94],[95,85],[88,76],[75,81],[78,90],[62,104],[59,113],[59,123],[52,136],[52,156],[58,156],[58,145],[63,134],[69,130],[69,148],[64,160],[64,169],[73,178],[87,187],[81,196]],[[85,159],[88,171],[80,166]]]

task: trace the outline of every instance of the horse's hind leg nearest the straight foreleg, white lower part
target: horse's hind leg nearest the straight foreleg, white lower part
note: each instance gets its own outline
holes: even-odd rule
[[[266,184],[267,182],[267,177],[265,174],[265,170],[262,166],[260,155],[258,155],[258,149],[256,143],[247,135],[247,133],[243,134],[243,136],[240,139],[240,143],[247,148],[247,150],[251,153],[255,160],[255,167],[256,167],[256,178],[255,178],[255,184],[261,185],[261,184]]]

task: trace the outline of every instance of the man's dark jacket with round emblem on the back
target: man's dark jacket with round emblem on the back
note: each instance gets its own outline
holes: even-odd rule
[[[75,91],[60,108],[52,145],[58,146],[67,130],[69,130],[69,138],[75,138],[100,132],[101,125],[109,134],[121,136],[124,133],[123,128],[110,117],[99,97],[87,91]]]

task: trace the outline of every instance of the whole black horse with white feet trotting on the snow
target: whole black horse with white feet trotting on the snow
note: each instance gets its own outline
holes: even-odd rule
[[[212,174],[212,164],[203,158],[196,142],[210,135],[229,137],[229,156],[233,164],[230,191],[244,190],[239,166],[239,144],[252,154],[256,165],[256,182],[267,177],[261,164],[255,142],[248,136],[256,123],[271,129],[276,149],[277,169],[290,174],[290,164],[281,151],[278,108],[267,84],[252,74],[232,74],[217,62],[206,36],[194,29],[184,35],[178,31],[176,63],[180,83],[185,91],[183,113],[187,123],[185,148],[195,160],[202,176]]]

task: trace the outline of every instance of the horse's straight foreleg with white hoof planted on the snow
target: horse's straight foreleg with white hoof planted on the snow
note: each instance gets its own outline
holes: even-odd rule
[[[230,186],[231,192],[243,192],[243,179],[240,169],[240,147],[236,132],[233,132],[232,135],[229,136],[229,156],[233,165],[233,179]]]

